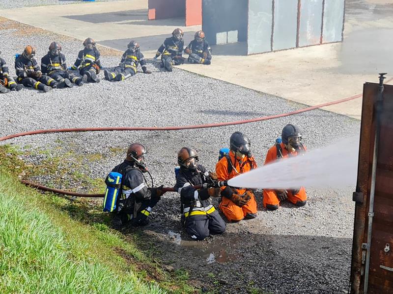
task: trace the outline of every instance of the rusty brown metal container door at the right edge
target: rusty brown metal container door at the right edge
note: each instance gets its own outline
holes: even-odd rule
[[[358,181],[354,193],[355,222],[352,247],[351,293],[393,293],[393,86],[384,85],[380,113],[379,140],[373,212],[370,190],[374,138],[377,129],[378,84],[365,83]],[[372,197],[371,197],[372,198]],[[372,199],[371,199],[372,202]],[[372,207],[372,205],[371,205]],[[371,242],[367,244],[368,222],[372,220]],[[368,279],[366,256],[369,250]],[[366,286],[365,286],[366,285]]]

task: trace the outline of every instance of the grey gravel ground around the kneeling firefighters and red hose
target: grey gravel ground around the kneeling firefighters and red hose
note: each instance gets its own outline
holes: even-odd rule
[[[62,40],[69,62],[74,61],[81,49],[81,42],[70,38],[44,32],[22,38],[15,35],[17,30],[16,27],[0,30],[0,44],[7,44],[9,48],[2,54],[8,63],[27,43],[37,46],[39,59],[56,38]],[[118,54],[103,55],[105,67],[119,62]],[[0,136],[46,128],[218,123],[304,107],[181,70],[164,73],[153,63],[148,64],[148,68],[152,74],[138,73],[124,82],[102,80],[99,84],[49,93],[25,89],[0,95]],[[100,77],[103,78],[103,73]],[[127,146],[140,142],[149,150],[149,169],[155,184],[172,186],[176,154],[181,147],[195,148],[200,162],[214,170],[218,150],[228,146],[231,133],[239,130],[251,138],[255,158],[262,164],[268,148],[286,123],[301,128],[309,149],[352,136],[360,129],[357,120],[315,110],[220,128],[48,134],[6,143],[29,150],[51,150],[53,155],[69,150],[86,156],[102,154],[103,159],[88,162],[84,172],[94,178],[104,178],[122,161]],[[26,157],[26,160],[39,162],[46,156]],[[51,175],[46,175],[34,180],[46,183],[50,179]],[[344,293],[349,283],[353,189],[308,190],[309,201],[305,207],[284,204],[275,212],[266,212],[258,196],[260,211],[256,219],[228,223],[225,234],[203,242],[191,242],[182,233],[179,196],[167,193],[142,232],[147,240],[154,242],[158,258],[171,263],[175,269],[189,270],[191,280],[197,285],[215,288],[218,293],[247,293],[256,288],[272,293]],[[133,229],[124,230],[126,234],[133,232]]]

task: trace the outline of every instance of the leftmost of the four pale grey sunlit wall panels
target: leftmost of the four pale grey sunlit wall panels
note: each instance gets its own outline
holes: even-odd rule
[[[271,50],[272,0],[249,0],[248,54]]]

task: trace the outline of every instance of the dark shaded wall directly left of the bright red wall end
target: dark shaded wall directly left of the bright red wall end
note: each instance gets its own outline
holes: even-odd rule
[[[184,17],[186,2],[185,0],[149,0],[148,7],[149,20]]]

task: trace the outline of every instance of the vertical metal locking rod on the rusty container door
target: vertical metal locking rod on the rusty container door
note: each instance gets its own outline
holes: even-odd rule
[[[375,107],[375,137],[374,137],[374,152],[372,156],[372,169],[371,169],[371,188],[370,188],[370,203],[368,209],[368,227],[367,227],[367,245],[366,245],[366,256],[365,256],[365,284],[364,284],[364,294],[368,291],[368,275],[370,268],[370,249],[371,249],[371,233],[372,233],[372,220],[374,217],[374,196],[375,196],[375,179],[377,174],[377,161],[378,161],[378,143],[379,143],[379,132],[381,126],[381,113],[382,113],[382,103],[383,103],[383,93],[384,93],[384,79],[386,73],[379,74],[379,87],[378,87],[378,97]]]

